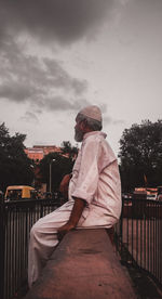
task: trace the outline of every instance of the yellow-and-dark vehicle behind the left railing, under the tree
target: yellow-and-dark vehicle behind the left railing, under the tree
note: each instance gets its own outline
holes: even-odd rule
[[[4,200],[31,199],[35,193],[35,188],[27,185],[8,186]]]

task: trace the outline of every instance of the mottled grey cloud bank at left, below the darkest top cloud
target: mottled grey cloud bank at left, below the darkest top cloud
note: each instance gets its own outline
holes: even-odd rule
[[[38,107],[42,101],[51,109],[68,108],[68,98],[75,95],[78,99],[87,88],[84,79],[73,78],[60,62],[26,55],[12,38],[3,42],[0,65],[0,99],[19,103],[28,101]],[[66,94],[66,100],[63,94]],[[48,102],[48,99],[55,99],[56,103],[54,100]]]

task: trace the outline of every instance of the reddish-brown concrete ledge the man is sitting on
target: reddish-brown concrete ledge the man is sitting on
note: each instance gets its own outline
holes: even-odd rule
[[[68,233],[26,299],[137,298],[106,230]]]

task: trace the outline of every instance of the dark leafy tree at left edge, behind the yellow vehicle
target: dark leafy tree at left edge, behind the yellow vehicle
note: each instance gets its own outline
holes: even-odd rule
[[[32,181],[31,160],[25,154],[25,134],[10,135],[4,122],[0,125],[0,190],[8,185],[30,184]]]

